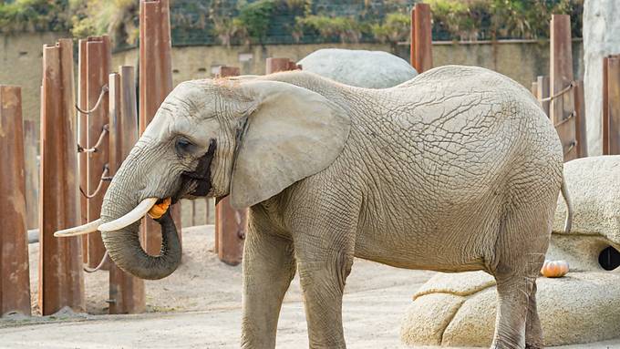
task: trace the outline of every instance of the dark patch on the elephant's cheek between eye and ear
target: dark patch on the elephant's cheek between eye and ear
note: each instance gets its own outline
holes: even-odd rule
[[[181,190],[172,198],[173,203],[185,196],[204,197],[210,194],[212,190],[211,163],[215,149],[217,149],[217,143],[212,139],[209,149],[199,159],[196,169],[181,174]]]

